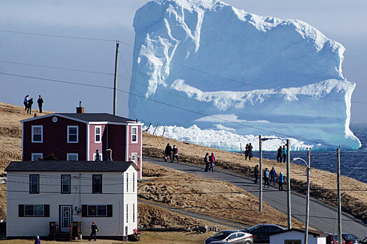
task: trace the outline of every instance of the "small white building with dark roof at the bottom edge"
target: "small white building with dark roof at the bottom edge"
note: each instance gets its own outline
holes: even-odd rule
[[[326,244],[324,232],[308,231],[308,244]],[[304,244],[305,229],[286,229],[270,236],[270,244]]]

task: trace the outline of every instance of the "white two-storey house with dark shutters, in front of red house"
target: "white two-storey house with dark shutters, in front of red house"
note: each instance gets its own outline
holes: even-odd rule
[[[48,236],[50,222],[68,233],[80,222],[89,236],[127,236],[137,228],[138,167],[134,162],[10,162],[6,236]]]

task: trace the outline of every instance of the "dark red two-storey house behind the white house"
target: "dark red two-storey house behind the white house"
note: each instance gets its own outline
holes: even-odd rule
[[[53,153],[58,160],[132,161],[141,169],[142,125],[140,121],[112,114],[59,113],[24,119],[22,158],[35,161]],[[97,159],[98,160],[98,159]],[[141,178],[141,170],[138,173]]]

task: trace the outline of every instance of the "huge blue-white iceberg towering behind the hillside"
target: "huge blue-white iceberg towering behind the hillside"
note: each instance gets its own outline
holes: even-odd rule
[[[345,48],[309,24],[217,0],[155,0],[136,11],[134,29],[129,117],[361,146],[349,128]]]

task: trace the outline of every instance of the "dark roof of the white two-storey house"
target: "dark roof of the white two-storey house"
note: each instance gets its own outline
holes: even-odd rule
[[[13,161],[5,171],[124,172],[131,165],[139,171],[134,162],[124,161]]]

